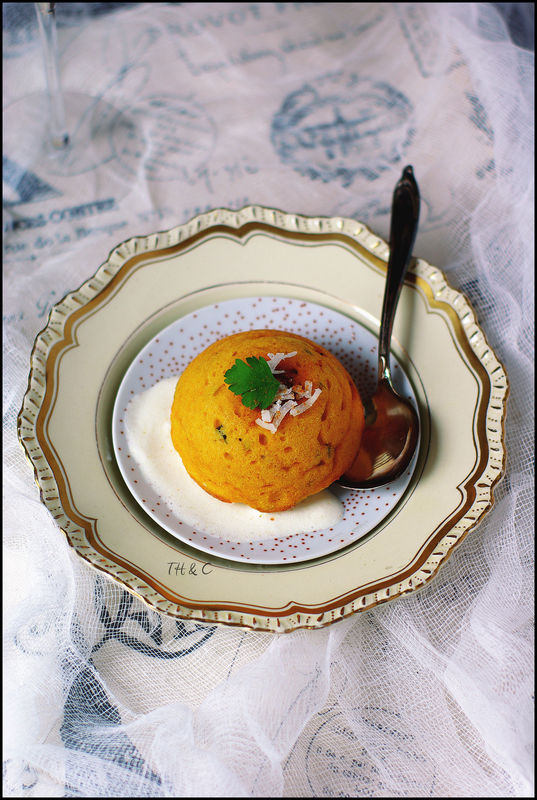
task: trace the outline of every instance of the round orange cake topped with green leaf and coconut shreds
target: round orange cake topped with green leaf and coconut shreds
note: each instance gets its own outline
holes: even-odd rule
[[[197,355],[171,410],[173,445],[190,476],[218,499],[260,511],[292,508],[339,478],[363,426],[360,396],[338,359],[274,330],[227,336]]]

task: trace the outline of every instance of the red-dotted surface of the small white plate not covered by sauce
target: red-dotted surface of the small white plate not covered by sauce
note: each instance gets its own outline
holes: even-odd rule
[[[372,391],[377,378],[377,343],[375,337],[354,320],[332,309],[292,298],[243,298],[216,303],[193,312],[165,329],[144,348],[129,371],[123,391],[124,414],[130,398],[159,381],[179,376],[186,365],[212,342],[233,333],[259,328],[274,328],[300,333],[330,350],[346,367],[361,393]],[[397,388],[410,399],[412,392],[403,370],[392,357],[392,372]],[[118,420],[123,421],[122,416]],[[204,551],[234,560],[282,563],[298,562],[325,555],[360,539],[375,528],[401,498],[410,477],[407,473],[376,490],[349,492],[333,489],[344,507],[341,521],[327,530],[295,533],[262,541],[234,541],[208,532],[192,530],[175,518],[163,498],[140,495],[143,476],[128,453],[122,425],[119,426],[118,458],[130,474],[132,490],[143,507],[163,527]]]

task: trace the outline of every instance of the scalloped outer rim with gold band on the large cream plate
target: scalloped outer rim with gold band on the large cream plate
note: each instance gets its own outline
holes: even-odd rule
[[[476,375],[481,389],[474,430],[479,459],[461,486],[459,508],[437,527],[421,552],[403,570],[319,606],[289,603],[279,609],[263,609],[213,602],[198,608],[198,604],[188,598],[170,592],[140,567],[112,553],[99,539],[98,521],[80,514],[71,502],[67,476],[46,428],[54,406],[55,374],[61,355],[76,344],[78,321],[109,302],[142,264],[185,252],[215,236],[229,236],[244,242],[258,233],[308,244],[337,242],[357,253],[372,269],[386,270],[387,244],[362,223],[345,218],[289,215],[261,206],[246,206],[236,212],[215,209],[169,231],[129,239],[111,251],[107,261],[88,281],[52,308],[46,327],[34,343],[28,389],[17,427],[19,439],[33,465],[42,502],[70,545],[88,563],[112,575],[150,607],[171,616],[284,632],[324,627],[415,591],[432,580],[454,546],[475,528],[493,505],[493,489],[505,467],[504,420],[509,387],[505,370],[479,327],[470,303],[462,293],[449,286],[440,270],[422,260],[415,261],[407,283],[422,294],[430,312],[440,313],[447,320],[453,341]]]

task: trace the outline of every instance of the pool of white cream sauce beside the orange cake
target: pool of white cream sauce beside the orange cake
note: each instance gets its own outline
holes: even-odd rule
[[[328,490],[288,511],[272,513],[223,503],[207,494],[190,477],[172,444],[170,412],[176,383],[177,378],[167,378],[136,395],[127,407],[125,432],[144,480],[178,519],[195,530],[235,541],[323,530],[340,521],[343,505]]]

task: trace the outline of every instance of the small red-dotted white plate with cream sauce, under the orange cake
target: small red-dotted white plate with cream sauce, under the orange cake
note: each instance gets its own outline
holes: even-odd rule
[[[296,297],[256,295],[224,300],[180,317],[159,331],[136,354],[121,381],[114,403],[114,453],[132,495],[150,517],[178,539],[198,550],[233,561],[299,563],[341,550],[375,530],[403,501],[416,468],[418,452],[403,475],[375,491],[353,492],[334,484],[322,496],[309,498],[294,509],[277,515],[245,507],[237,510],[231,507],[235,504],[204,497],[188,479],[185,486],[185,479],[176,463],[177,454],[171,443],[169,424],[176,379],[190,361],[216,339],[259,328],[299,331],[340,360],[363,396],[374,389],[377,338],[352,317],[326,305]],[[404,369],[395,356],[392,362],[397,390],[416,406],[415,393]],[[139,408],[140,401],[151,402],[150,393],[158,386],[162,387],[158,397],[164,390],[164,397],[168,398],[165,416],[160,400],[158,410],[151,405],[145,412],[143,439],[149,440],[150,448],[146,453],[143,444],[141,451],[138,442],[134,441],[134,448],[132,446],[128,416],[133,407],[131,404],[137,402]],[[300,424],[300,420],[296,424]],[[164,454],[164,459],[159,467],[160,453]],[[151,455],[154,463],[148,469]],[[177,494],[174,479],[180,487],[175,502],[170,499]],[[182,503],[181,491],[183,494],[192,492],[192,500],[187,497]],[[196,516],[195,504],[200,500],[202,508],[208,505],[210,510],[205,519],[199,512]],[[318,518],[319,513],[321,519],[328,517],[330,524],[312,529],[311,520]],[[274,528],[281,527],[282,523],[284,532],[274,533]]]

